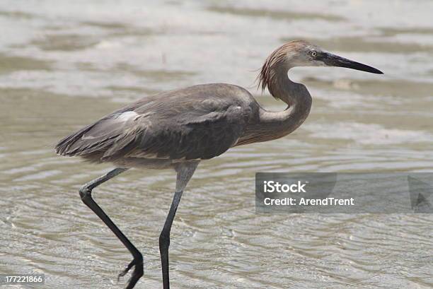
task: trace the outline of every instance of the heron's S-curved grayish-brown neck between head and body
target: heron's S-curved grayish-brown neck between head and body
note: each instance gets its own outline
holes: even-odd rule
[[[305,85],[291,81],[287,71],[284,67],[276,69],[268,83],[272,96],[286,102],[287,109],[282,112],[260,110],[260,131],[267,135],[267,140],[290,134],[304,122],[311,109],[311,95]]]

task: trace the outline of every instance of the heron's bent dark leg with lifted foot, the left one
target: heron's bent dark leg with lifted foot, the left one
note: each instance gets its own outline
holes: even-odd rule
[[[80,196],[83,203],[86,204],[89,208],[91,208],[91,210],[95,212],[96,215],[98,215],[98,217],[105,223],[105,225],[108,226],[108,228],[110,228],[112,232],[115,233],[117,238],[119,238],[119,240],[125,245],[125,247],[127,247],[129,252],[131,252],[132,256],[134,257],[134,259],[131,261],[131,263],[129,263],[127,268],[124,271],[122,271],[122,273],[119,274],[119,277],[124,276],[127,273],[127,271],[129,271],[129,269],[135,266],[134,272],[132,273],[132,276],[129,279],[127,286],[125,287],[125,289],[131,289],[134,288],[134,285],[137,283],[139,278],[143,276],[142,253],[140,253],[139,250],[137,250],[137,248],[134,247],[134,245],[128,240],[128,238],[122,233],[122,231],[120,231],[119,228],[117,228],[115,223],[112,223],[112,220],[105,214],[103,209],[100,208],[100,206],[98,206],[98,204],[96,204],[96,202],[92,198],[92,189],[98,187],[103,182],[107,182],[108,179],[112,179],[113,177],[119,175],[120,173],[125,172],[125,170],[127,169],[117,168],[111,170],[110,172],[108,172],[106,175],[103,175],[102,177],[98,177],[98,179],[93,179],[93,181],[88,182],[87,184],[83,185],[83,187],[81,187]]]

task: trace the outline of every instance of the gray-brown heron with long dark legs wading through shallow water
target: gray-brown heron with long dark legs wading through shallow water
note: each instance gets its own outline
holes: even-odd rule
[[[272,141],[287,136],[308,117],[312,99],[305,85],[291,81],[296,66],[340,66],[383,74],[374,67],[345,59],[304,40],[275,49],[262,65],[258,88],[287,104],[279,112],[261,107],[253,95],[238,85],[207,83],[144,97],[112,112],[55,146],[58,155],[78,156],[91,163],[115,166],[107,174],[79,189],[81,200],[96,213],[132,254],[119,274],[132,268],[125,288],[134,288],[143,276],[142,253],[129,241],[96,201],[92,190],[131,168],[174,170],[175,191],[159,235],[163,289],[170,288],[168,247],[180,198],[202,160],[209,160],[235,146]]]

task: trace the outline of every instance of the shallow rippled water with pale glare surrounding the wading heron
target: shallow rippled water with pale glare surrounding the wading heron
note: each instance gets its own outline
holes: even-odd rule
[[[69,1],[72,2],[72,1]],[[253,88],[272,49],[304,38],[376,66],[291,71],[313,108],[290,136],[200,164],[171,240],[173,288],[432,288],[432,216],[258,215],[255,172],[429,172],[431,1],[2,1],[0,273],[43,288],[122,288],[131,257],[77,189],[110,165],[54,155],[117,107],[187,85]],[[125,172],[96,201],[144,254],[136,288],[161,288],[158,234],[175,176]]]

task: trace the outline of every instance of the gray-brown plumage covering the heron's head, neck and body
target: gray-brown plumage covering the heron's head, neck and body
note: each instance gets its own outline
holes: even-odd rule
[[[137,167],[145,160],[207,160],[232,146],[280,138],[299,127],[310,111],[311,95],[304,85],[290,81],[287,71],[293,66],[324,66],[321,59],[308,59],[311,51],[329,55],[308,42],[293,41],[276,49],[262,66],[259,85],[287,103],[284,112],[267,112],[237,85],[195,85],[112,112],[59,141],[56,152]]]

